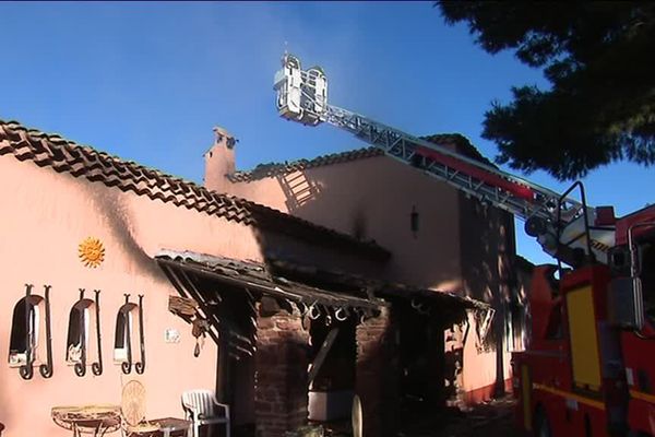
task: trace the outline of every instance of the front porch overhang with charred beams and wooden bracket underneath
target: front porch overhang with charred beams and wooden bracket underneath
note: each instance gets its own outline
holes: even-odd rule
[[[209,321],[207,333],[226,352],[218,354],[216,364],[216,393],[226,402],[234,395],[229,386],[234,363],[259,351],[258,320],[295,314],[303,322],[322,317],[338,321],[352,318],[357,323],[379,316],[381,307],[389,306],[382,299],[289,281],[254,261],[175,250],[162,250],[154,260],[182,297],[198,303],[198,315],[187,317],[187,321]],[[314,373],[321,364],[321,359],[312,363]]]

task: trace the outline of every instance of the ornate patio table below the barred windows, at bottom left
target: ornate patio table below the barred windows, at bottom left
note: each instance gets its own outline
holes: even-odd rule
[[[52,421],[64,429],[73,432],[74,437],[91,434],[103,437],[120,428],[119,405],[66,405],[53,406]]]

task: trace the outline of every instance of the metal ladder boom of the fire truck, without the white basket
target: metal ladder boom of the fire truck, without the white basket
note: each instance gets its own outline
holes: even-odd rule
[[[567,252],[579,249],[597,261],[607,262],[614,228],[595,227],[596,210],[584,202],[343,108],[326,105],[320,119],[349,131],[388,156],[453,186],[467,197],[514,214],[526,222],[527,234],[537,237],[544,251],[558,260],[571,263]],[[592,247],[590,240],[608,245]]]

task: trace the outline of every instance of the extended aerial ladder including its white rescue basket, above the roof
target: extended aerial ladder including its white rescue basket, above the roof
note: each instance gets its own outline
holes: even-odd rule
[[[326,122],[382,150],[388,156],[422,170],[457,190],[525,221],[525,231],[559,261],[576,265],[593,259],[608,262],[615,244],[614,211],[586,205],[584,189],[564,196],[472,160],[443,145],[327,103],[327,80],[320,67],[302,70],[289,54],[274,80],[279,115],[307,126]],[[569,194],[574,188],[581,200]]]

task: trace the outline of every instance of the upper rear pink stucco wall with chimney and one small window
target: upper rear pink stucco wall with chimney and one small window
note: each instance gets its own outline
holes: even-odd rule
[[[442,291],[461,288],[457,193],[445,185],[383,156],[231,184],[213,169],[224,168],[225,147],[216,145],[210,152],[207,188],[374,239],[393,252],[383,273],[388,280]],[[285,193],[286,187],[293,193]],[[413,206],[420,222],[416,236],[409,226]]]

